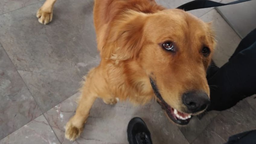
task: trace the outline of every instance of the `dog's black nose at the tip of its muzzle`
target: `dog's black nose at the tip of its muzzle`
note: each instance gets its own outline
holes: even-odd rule
[[[210,98],[203,91],[189,91],[182,95],[183,103],[191,113],[204,110],[210,104]]]

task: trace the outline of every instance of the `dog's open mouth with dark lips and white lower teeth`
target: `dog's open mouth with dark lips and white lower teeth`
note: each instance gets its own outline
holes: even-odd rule
[[[151,86],[154,90],[154,93],[157,97],[158,104],[161,105],[162,109],[165,110],[168,117],[174,122],[179,125],[186,125],[189,123],[191,119],[191,114],[182,113],[174,108],[172,108],[170,105],[168,105],[164,99],[162,98],[161,94],[158,92],[158,88],[155,85],[155,82],[150,78]]]

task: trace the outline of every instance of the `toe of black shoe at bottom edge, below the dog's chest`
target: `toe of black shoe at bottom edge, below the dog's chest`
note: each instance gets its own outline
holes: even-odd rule
[[[130,120],[127,135],[129,144],[152,144],[149,129],[139,117]]]

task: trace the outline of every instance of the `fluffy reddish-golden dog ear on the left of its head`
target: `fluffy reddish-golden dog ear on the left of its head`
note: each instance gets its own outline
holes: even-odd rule
[[[143,27],[147,14],[129,11],[114,29],[115,48],[112,58],[127,60],[136,58],[143,43]]]

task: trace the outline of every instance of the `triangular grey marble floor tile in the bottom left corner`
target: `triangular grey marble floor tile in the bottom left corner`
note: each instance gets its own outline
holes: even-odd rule
[[[0,140],[1,144],[60,144],[43,115]]]

